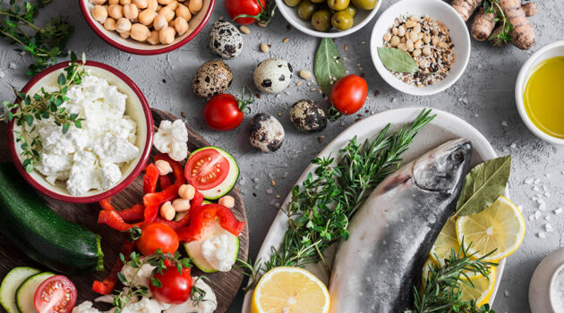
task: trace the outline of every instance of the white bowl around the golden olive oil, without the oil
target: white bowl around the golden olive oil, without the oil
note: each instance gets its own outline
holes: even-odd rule
[[[517,81],[515,83],[515,103],[517,104],[517,110],[519,111],[519,115],[521,115],[521,119],[526,124],[526,127],[529,130],[533,131],[533,133],[538,138],[544,141],[555,143],[557,145],[564,145],[564,140],[560,138],[552,137],[546,132],[541,131],[538,127],[534,125],[533,122],[531,122],[529,115],[526,114],[525,111],[525,104],[523,102],[523,93],[525,91],[526,82],[529,80],[532,70],[538,63],[550,59],[551,57],[562,56],[562,55],[564,55],[564,40],[557,41],[551,43],[548,46],[540,48],[537,52],[531,55],[528,60],[526,60],[525,64],[523,64],[523,66],[521,67],[521,71],[519,71],[519,75],[517,76]]]

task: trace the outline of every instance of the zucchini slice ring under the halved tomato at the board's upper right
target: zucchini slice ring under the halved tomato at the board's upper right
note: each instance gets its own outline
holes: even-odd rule
[[[233,156],[231,156],[226,151],[224,151],[220,148],[217,148],[217,147],[199,148],[199,149],[193,151],[190,154],[190,157],[193,157],[198,152],[201,152],[201,151],[206,150],[206,149],[216,150],[222,157],[225,157],[227,162],[229,163],[229,171],[228,171],[225,179],[223,180],[223,182],[220,182],[217,186],[212,187],[208,190],[202,190],[201,188],[198,188],[197,182],[191,182],[189,177],[186,177],[186,178],[188,179],[189,183],[191,183],[194,187],[196,187],[196,189],[198,189],[201,192],[201,194],[204,196],[205,199],[215,200],[215,199],[219,199],[219,198],[225,196],[227,193],[229,193],[229,191],[231,191],[233,189],[233,187],[235,187],[235,183],[237,182],[237,178],[239,178],[239,165],[237,165],[237,162],[235,161],[235,158]],[[190,157],[188,157],[188,161],[187,161],[186,165],[190,164]],[[187,171],[187,173],[189,173],[188,169],[186,169],[186,171]]]

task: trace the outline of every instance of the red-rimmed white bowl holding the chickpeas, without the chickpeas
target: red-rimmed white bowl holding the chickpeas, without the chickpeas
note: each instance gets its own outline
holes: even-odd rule
[[[147,42],[133,40],[132,38],[124,39],[119,36],[117,31],[106,30],[104,25],[92,18],[91,9],[94,5],[90,4],[89,0],[79,0],[79,4],[81,5],[82,15],[90,25],[90,28],[111,46],[135,55],[160,55],[182,47],[196,37],[208,22],[216,0],[202,0],[200,12],[193,15],[192,19],[188,21],[190,30],[184,35],[176,37],[172,44],[154,46]]]

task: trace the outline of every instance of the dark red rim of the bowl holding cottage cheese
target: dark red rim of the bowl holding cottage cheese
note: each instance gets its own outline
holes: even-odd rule
[[[28,91],[30,91],[30,89],[36,83],[38,83],[39,80],[41,80],[45,76],[47,76],[47,74],[49,74],[51,72],[55,72],[57,70],[60,70],[64,67],[66,67],[67,65],[68,65],[68,62],[58,63],[56,65],[53,65],[53,66],[47,68],[46,70],[44,70],[42,72],[39,72],[37,75],[35,75],[30,80],[30,82],[28,82],[23,87],[23,89],[21,89],[21,91],[27,93]],[[146,126],[147,126],[147,139],[145,140],[145,148],[143,149],[143,152],[142,152],[141,157],[139,159],[139,163],[137,165],[135,165],[135,167],[132,170],[132,173],[130,173],[127,177],[125,177],[125,179],[122,182],[115,185],[115,187],[110,189],[110,190],[106,190],[106,191],[99,193],[97,195],[88,196],[88,197],[66,196],[64,194],[61,194],[61,193],[58,193],[56,191],[49,190],[49,189],[45,188],[43,185],[41,185],[35,179],[33,179],[33,177],[31,177],[31,175],[29,173],[27,173],[26,170],[21,165],[21,159],[18,156],[18,152],[16,151],[15,140],[14,140],[14,136],[13,136],[14,121],[11,121],[8,124],[8,131],[9,131],[9,133],[8,133],[8,143],[9,143],[9,146],[10,146],[10,155],[12,156],[13,163],[14,163],[15,167],[18,169],[18,172],[21,173],[21,176],[23,176],[23,178],[27,182],[29,182],[31,186],[33,186],[33,188],[35,188],[36,190],[39,190],[41,193],[46,194],[47,196],[49,196],[53,199],[62,200],[62,201],[66,201],[66,202],[73,202],[73,203],[93,203],[93,202],[97,202],[101,199],[106,199],[108,197],[111,197],[121,190],[124,190],[125,187],[127,187],[130,183],[133,182],[133,180],[135,180],[135,178],[137,178],[137,176],[141,173],[141,171],[145,167],[145,164],[147,163],[147,160],[150,157],[150,150],[151,150],[152,141],[153,141],[153,136],[152,136],[152,133],[153,133],[153,116],[150,112],[149,103],[147,102],[147,99],[145,98],[145,96],[143,96],[143,94],[141,93],[141,89],[139,89],[139,87],[137,87],[137,85],[135,85],[133,80],[131,80],[129,77],[127,77],[123,72],[119,72],[118,70],[116,70],[115,68],[113,68],[113,67],[111,67],[107,64],[98,63],[98,62],[95,62],[95,61],[86,61],[86,65],[92,66],[92,67],[98,67],[100,69],[106,70],[107,72],[113,73],[120,80],[124,80],[125,84],[127,84],[127,86],[129,86],[133,90],[133,92],[135,93],[135,96],[137,96],[139,98],[139,100],[141,102],[141,106],[143,108],[143,114],[145,115],[145,123],[146,123]]]

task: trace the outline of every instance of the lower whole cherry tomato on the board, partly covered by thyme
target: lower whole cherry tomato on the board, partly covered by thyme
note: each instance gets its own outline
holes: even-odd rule
[[[182,274],[178,274],[175,266],[167,267],[162,274],[153,276],[162,284],[160,287],[150,283],[150,292],[157,300],[169,304],[181,304],[190,299],[192,291],[192,276],[190,268],[183,268]]]

